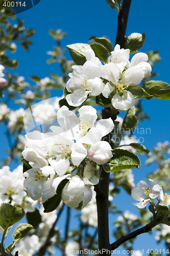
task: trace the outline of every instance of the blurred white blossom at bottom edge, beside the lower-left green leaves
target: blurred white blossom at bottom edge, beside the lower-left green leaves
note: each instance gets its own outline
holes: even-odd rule
[[[17,243],[14,251],[19,251],[19,256],[34,256],[40,247],[39,238],[33,234],[32,236],[21,239]]]

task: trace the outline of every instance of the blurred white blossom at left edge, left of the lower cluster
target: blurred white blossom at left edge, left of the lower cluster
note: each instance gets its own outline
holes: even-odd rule
[[[27,196],[23,187],[22,165],[10,172],[9,166],[0,169],[0,198],[3,202],[11,204],[22,204],[23,198]]]

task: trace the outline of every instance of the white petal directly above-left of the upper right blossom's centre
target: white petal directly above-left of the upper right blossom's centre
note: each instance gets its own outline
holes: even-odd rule
[[[113,62],[102,66],[102,77],[117,84],[118,79],[122,75],[122,71],[119,70],[117,65]]]

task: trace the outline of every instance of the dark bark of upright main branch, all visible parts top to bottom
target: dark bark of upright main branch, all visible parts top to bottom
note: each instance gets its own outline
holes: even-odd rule
[[[125,34],[128,22],[129,9],[131,5],[131,0],[123,0],[122,8],[118,14],[118,24],[117,24],[117,34],[116,34],[116,44],[123,48],[125,45]],[[118,111],[113,109],[105,108],[102,111],[102,118],[106,119],[111,117],[114,121]],[[108,135],[108,141],[110,141],[110,136]],[[100,178],[98,185],[94,186],[96,192],[96,204],[98,208],[98,243],[99,250],[106,249],[111,252],[111,245],[109,242],[109,220],[108,220],[108,195],[109,195],[109,177],[110,174],[106,173],[103,166],[100,167]],[[116,247],[117,248],[117,247]],[[108,253],[103,253],[103,255],[108,256]]]

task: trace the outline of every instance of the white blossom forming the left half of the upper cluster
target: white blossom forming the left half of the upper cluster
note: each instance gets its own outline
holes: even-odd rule
[[[85,52],[87,61],[83,66],[74,65],[72,73],[69,73],[70,79],[67,81],[66,88],[71,94],[66,96],[66,100],[71,106],[79,106],[90,93],[92,96],[100,95],[104,84],[102,79],[102,63],[95,57],[92,49]]]

